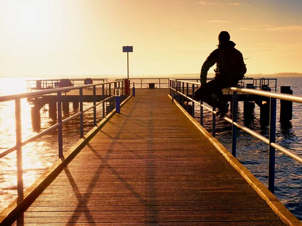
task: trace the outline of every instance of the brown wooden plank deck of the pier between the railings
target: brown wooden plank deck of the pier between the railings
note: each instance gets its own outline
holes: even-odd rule
[[[167,97],[137,90],[20,225],[284,225]]]

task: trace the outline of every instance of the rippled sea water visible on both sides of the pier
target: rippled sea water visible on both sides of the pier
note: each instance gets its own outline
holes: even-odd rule
[[[167,81],[164,81],[167,82]],[[137,87],[140,80],[136,80]],[[277,86],[289,85],[295,95],[302,95],[302,77],[278,77]],[[156,84],[159,87],[159,84]],[[163,85],[162,85],[163,86]],[[144,85],[143,85],[144,87]],[[0,95],[26,92],[26,82],[18,78],[0,78]],[[278,110],[279,110],[279,101]],[[90,103],[86,103],[89,106]],[[101,107],[100,107],[101,108]],[[302,104],[293,103],[293,119],[289,125],[279,123],[279,112],[277,112],[277,143],[302,155]],[[69,115],[78,112],[70,105]],[[13,101],[0,103],[0,153],[15,145],[15,105]],[[101,115],[101,109],[98,109]],[[67,118],[68,114],[63,117]],[[205,114],[208,115],[208,114]],[[85,115],[85,131],[93,128],[91,124],[92,111]],[[259,108],[255,107],[254,114],[249,119],[243,118],[243,104],[239,104],[238,121],[247,127],[253,128],[261,135],[268,137],[268,126],[260,125]],[[80,138],[80,127],[74,119],[63,126],[63,131],[67,132],[63,137],[64,150],[67,151]],[[101,118],[98,119],[98,122]],[[48,117],[48,109],[41,110],[41,128],[33,129],[31,122],[31,107],[22,100],[22,136],[23,141],[55,124]],[[211,130],[211,121],[204,121],[205,128]],[[223,120],[216,121],[216,138],[229,150],[231,150],[231,131],[232,127]],[[261,141],[252,138],[245,132],[239,131],[237,156],[260,181],[267,185],[268,178],[268,147]],[[301,164],[286,157],[276,151],[276,188],[275,194],[281,202],[293,212],[299,219],[302,219],[302,170]],[[56,131],[43,136],[41,139],[28,144],[23,148],[24,161],[24,185],[30,186],[49,166],[58,158]],[[12,153],[0,159],[2,166],[0,171],[0,210],[5,208],[16,198],[16,154]]]

